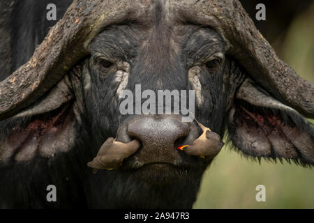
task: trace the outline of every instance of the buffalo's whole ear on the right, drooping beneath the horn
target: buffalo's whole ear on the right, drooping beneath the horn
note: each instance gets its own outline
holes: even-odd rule
[[[311,124],[251,79],[237,91],[227,126],[232,143],[246,155],[314,166]]]

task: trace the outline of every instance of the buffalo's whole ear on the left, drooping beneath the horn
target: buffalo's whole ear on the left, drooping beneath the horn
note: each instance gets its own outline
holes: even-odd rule
[[[51,158],[74,146],[80,118],[71,83],[66,75],[34,105],[0,122],[0,162]]]

